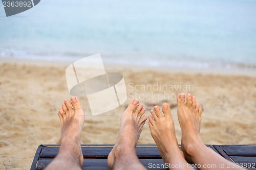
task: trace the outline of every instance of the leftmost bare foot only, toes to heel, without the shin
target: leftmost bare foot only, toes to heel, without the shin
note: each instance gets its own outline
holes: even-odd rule
[[[59,108],[58,114],[61,124],[60,147],[65,147],[66,150],[72,149],[71,152],[75,152],[74,155],[79,156],[79,163],[82,166],[83,155],[80,140],[84,114],[79,100],[76,97],[72,97],[70,103],[69,100],[66,99]],[[75,148],[75,150],[73,148]],[[76,158],[74,157],[74,159]]]

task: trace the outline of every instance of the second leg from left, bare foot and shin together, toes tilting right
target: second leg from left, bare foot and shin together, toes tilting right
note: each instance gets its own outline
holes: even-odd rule
[[[121,117],[117,141],[109,154],[108,165],[114,169],[145,169],[135,148],[147,116],[142,104],[134,99]],[[136,109],[137,108],[137,109]],[[136,109],[136,110],[135,110]]]

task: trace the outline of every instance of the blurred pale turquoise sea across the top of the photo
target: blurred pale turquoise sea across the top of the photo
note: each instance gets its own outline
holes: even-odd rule
[[[6,17],[0,59],[256,68],[256,1],[41,0]]]

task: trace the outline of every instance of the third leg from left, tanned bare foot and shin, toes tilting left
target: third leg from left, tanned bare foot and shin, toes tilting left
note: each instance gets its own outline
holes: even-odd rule
[[[165,165],[167,163],[169,168],[172,167],[170,165],[176,165],[172,169],[193,169],[186,166],[187,162],[184,154],[179,148],[169,106],[166,103],[162,105],[164,115],[161,114],[158,106],[155,106],[154,109],[155,111],[151,110],[152,116],[148,117],[150,120],[148,126],[150,126],[151,135],[157,144]]]

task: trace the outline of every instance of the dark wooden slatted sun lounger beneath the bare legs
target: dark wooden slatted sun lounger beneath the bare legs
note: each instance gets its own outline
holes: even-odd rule
[[[256,145],[206,145],[224,158],[236,162],[253,164],[256,170]],[[83,153],[83,169],[109,169],[107,159],[113,145],[81,145]],[[44,169],[57,155],[59,145],[41,144],[39,145],[31,170]],[[137,155],[144,166],[148,169],[148,163],[164,164],[156,145],[138,145],[136,147]],[[165,169],[165,168],[159,168]],[[232,169],[232,168],[230,168]]]

